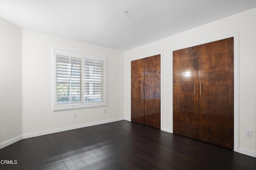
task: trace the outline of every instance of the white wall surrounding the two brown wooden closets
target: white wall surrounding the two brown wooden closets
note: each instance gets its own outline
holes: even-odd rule
[[[174,25],[175,26],[175,25]],[[163,52],[163,128],[171,131],[172,113],[172,58],[171,50],[195,45],[239,31],[239,144],[240,152],[256,156],[256,8],[200,27],[126,51],[125,59],[125,118],[130,120],[130,61],[158,51]],[[245,129],[252,130],[246,138]]]

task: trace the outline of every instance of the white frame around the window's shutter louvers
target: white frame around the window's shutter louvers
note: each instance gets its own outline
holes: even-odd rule
[[[78,109],[78,108],[87,108],[87,107],[100,107],[107,106],[107,58],[96,55],[89,55],[83,53],[76,53],[72,51],[66,51],[61,49],[53,49],[53,111],[57,110],[67,110],[67,109]],[[57,55],[71,56],[82,59],[82,102],[81,103],[69,103],[69,104],[57,104]],[[85,102],[85,79],[86,79],[86,68],[85,60],[95,60],[104,62],[104,81],[102,84],[102,89],[104,89],[104,101],[95,101],[95,102]]]

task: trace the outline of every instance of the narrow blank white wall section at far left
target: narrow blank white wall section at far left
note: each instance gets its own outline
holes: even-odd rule
[[[21,29],[0,18],[0,143],[22,133]]]

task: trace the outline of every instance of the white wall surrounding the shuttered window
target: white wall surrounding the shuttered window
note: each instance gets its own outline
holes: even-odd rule
[[[107,106],[52,111],[52,48],[107,57]],[[122,51],[22,30],[22,134],[124,117],[123,65]]]

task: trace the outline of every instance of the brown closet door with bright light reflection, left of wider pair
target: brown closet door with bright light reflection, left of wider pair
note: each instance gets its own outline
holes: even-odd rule
[[[173,52],[173,132],[198,139],[198,46]]]

